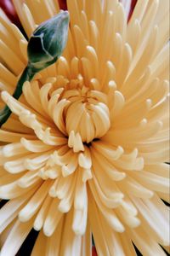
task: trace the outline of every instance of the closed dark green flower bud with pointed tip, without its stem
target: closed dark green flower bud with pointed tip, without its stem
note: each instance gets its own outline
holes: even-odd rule
[[[65,49],[68,37],[69,14],[61,12],[46,20],[33,32],[27,47],[28,65],[40,71],[53,64]]]

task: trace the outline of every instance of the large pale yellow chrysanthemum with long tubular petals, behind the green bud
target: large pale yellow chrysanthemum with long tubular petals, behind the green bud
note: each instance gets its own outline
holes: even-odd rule
[[[68,0],[64,54],[11,94],[26,38],[0,12],[0,89],[13,114],[0,130],[1,256],[32,227],[31,256],[165,255],[168,246],[168,0]],[[14,0],[28,35],[55,0]],[[133,242],[133,243],[132,243]],[[161,245],[161,246],[160,246]]]

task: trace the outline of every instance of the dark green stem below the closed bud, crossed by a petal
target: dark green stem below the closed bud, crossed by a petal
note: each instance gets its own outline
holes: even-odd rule
[[[23,73],[20,76],[20,79],[16,85],[16,89],[14,90],[14,98],[19,99],[22,94],[22,87],[23,84],[26,81],[31,81],[33,79],[34,75],[36,74],[35,71],[33,71],[31,66],[27,66]],[[0,127],[8,120],[9,116],[11,114],[11,110],[6,105],[1,111],[0,111]]]

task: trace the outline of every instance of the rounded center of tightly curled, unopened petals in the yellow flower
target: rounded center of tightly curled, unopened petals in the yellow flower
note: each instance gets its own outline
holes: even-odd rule
[[[80,137],[82,143],[103,137],[109,130],[110,111],[105,93],[82,85],[65,90],[61,96],[62,116],[68,137]],[[61,129],[60,129],[61,130]]]

